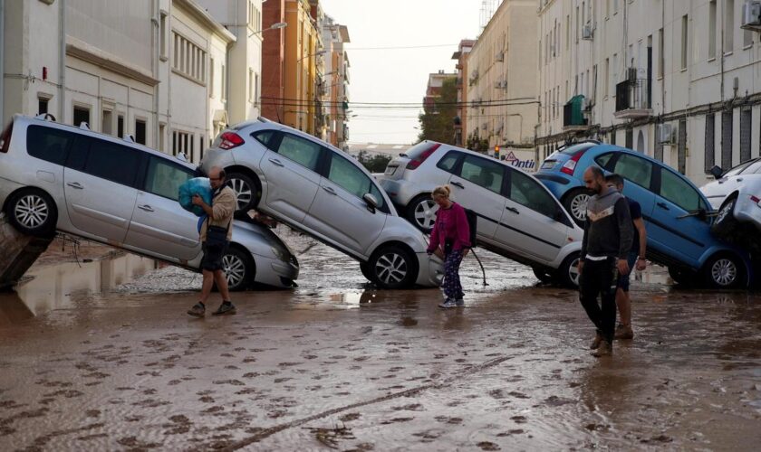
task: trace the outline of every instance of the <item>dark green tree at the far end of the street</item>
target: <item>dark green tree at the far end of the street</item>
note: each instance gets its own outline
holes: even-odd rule
[[[448,145],[455,144],[455,117],[458,114],[458,86],[455,77],[444,80],[441,96],[433,99],[433,105],[426,107],[419,115],[419,141],[433,140]]]

